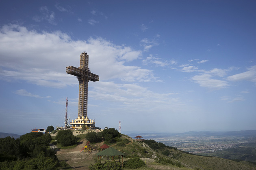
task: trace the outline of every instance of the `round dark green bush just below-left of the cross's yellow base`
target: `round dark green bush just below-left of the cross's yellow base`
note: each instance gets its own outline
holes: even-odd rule
[[[73,135],[71,130],[60,130],[56,135],[56,140],[63,147],[76,144],[76,136]]]

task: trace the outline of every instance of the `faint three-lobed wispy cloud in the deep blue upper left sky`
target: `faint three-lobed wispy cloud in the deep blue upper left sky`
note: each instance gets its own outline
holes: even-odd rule
[[[55,13],[53,11],[49,11],[47,6],[41,6],[39,11],[40,11],[41,15],[34,16],[33,17],[34,21],[41,22],[43,20],[46,20],[49,23],[51,23],[52,25],[57,25],[56,22],[54,21]]]

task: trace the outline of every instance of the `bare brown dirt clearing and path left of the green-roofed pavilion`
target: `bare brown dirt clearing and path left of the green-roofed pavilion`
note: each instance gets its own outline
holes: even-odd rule
[[[57,151],[56,155],[60,160],[65,160],[67,164],[75,170],[89,170],[88,166],[94,164],[93,157],[97,157],[95,154],[98,153],[98,151],[93,150],[91,153],[81,151],[86,143],[87,140],[83,139],[75,148],[60,149]],[[98,144],[96,147],[98,148],[101,145],[102,143]]]

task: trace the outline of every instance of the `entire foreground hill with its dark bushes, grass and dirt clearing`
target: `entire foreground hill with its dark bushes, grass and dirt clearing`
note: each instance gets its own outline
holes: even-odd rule
[[[58,140],[55,141],[56,139]],[[74,140],[76,140],[75,144]],[[93,148],[91,153],[82,150],[88,140]],[[59,149],[50,149],[50,142]],[[111,161],[107,161],[106,156],[98,159],[96,153],[104,143],[125,154],[124,168],[121,163],[118,163],[118,156],[114,157],[114,162],[112,158]],[[256,165],[248,161],[194,155],[154,140],[138,142],[127,135],[120,134],[114,128],[107,127],[102,131],[58,130],[51,135],[28,133],[18,139],[0,138],[1,170],[131,170],[134,168],[138,170],[255,170]]]

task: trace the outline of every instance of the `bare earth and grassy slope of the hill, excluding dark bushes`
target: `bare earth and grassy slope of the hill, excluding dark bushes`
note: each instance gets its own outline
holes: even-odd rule
[[[94,164],[94,159],[97,159],[95,154],[98,153],[98,148],[104,142],[91,143],[93,147],[97,148],[91,154],[80,152],[87,143],[85,135],[89,131],[73,132],[80,139],[80,142],[76,147],[59,149],[57,157],[60,160],[65,160],[72,167],[71,169],[89,170],[88,166]],[[218,157],[194,155],[154,140],[137,142],[124,134],[121,135],[117,142],[108,145],[125,153],[124,161],[132,157],[139,157],[145,161],[146,167],[138,168],[139,170],[253,170],[256,167],[255,164],[247,161],[233,161]],[[115,157],[115,159],[118,159],[118,157]],[[104,157],[103,160],[106,160],[106,158]]]

